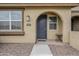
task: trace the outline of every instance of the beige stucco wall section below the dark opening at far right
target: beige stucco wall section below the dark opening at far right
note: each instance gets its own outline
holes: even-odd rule
[[[79,32],[78,31],[71,31],[70,45],[79,50]]]

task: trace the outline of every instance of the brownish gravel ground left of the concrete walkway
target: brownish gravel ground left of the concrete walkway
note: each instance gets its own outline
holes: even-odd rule
[[[0,44],[0,56],[29,56],[34,44]]]

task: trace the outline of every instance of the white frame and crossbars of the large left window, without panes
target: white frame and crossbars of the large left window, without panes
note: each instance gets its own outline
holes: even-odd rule
[[[5,29],[5,30],[2,30],[0,29],[0,32],[19,32],[19,31],[22,31],[22,19],[19,19],[19,20],[13,20],[11,19],[11,11],[21,11],[22,10],[0,10],[0,11],[8,11],[9,12],[9,19],[8,20],[0,20],[0,21],[8,21],[9,22],[9,29]],[[11,21],[20,21],[21,22],[21,29],[11,29]]]

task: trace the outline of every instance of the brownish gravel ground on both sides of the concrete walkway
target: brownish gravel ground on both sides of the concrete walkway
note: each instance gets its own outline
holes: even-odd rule
[[[0,44],[0,56],[29,56],[34,44]],[[49,44],[54,56],[79,56],[79,51],[69,45]]]

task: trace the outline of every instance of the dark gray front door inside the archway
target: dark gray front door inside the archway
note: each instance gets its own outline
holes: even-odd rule
[[[47,39],[47,15],[41,15],[37,20],[37,39]]]

